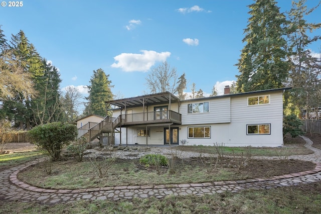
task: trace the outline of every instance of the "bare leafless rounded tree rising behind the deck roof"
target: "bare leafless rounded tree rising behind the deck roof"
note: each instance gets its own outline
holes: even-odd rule
[[[151,93],[159,93],[169,91],[173,94],[177,93],[178,76],[176,68],[172,68],[164,61],[163,64],[154,68],[146,77],[147,86]]]

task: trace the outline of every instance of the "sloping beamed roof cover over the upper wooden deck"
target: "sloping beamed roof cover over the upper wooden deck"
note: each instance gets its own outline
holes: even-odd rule
[[[105,101],[107,104],[112,104],[115,106],[118,106],[119,108],[126,107],[137,107],[149,104],[162,104],[162,103],[168,103],[171,99],[171,102],[179,102],[180,99],[172,94],[171,92],[160,92],[160,93],[153,93],[153,94],[147,94],[147,95],[141,95],[141,96],[134,96],[129,98],[123,98],[123,99],[115,99],[110,101]]]

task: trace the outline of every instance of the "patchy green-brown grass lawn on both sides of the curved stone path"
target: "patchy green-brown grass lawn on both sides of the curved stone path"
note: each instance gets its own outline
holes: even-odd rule
[[[286,145],[287,146],[287,145]],[[302,146],[302,145],[301,145]],[[293,153],[291,154],[302,154],[304,152],[304,148],[298,146],[298,145],[289,145],[288,151],[291,151]],[[199,152],[200,154],[203,153],[203,148],[201,148],[201,151],[199,148],[192,148],[194,151]],[[246,148],[244,148],[246,151]],[[256,150],[256,149],[254,149]],[[260,152],[252,150],[252,155],[259,154]],[[263,153],[267,153],[268,149],[260,148],[260,150],[263,151]],[[241,151],[244,152],[244,151]],[[236,149],[232,151],[232,153],[236,154]],[[275,151],[274,151],[275,152]],[[273,153],[273,152],[271,152]],[[228,154],[226,152],[225,154]],[[274,153],[275,154],[275,153]],[[39,157],[38,152],[27,152],[27,153],[16,153],[16,154],[9,154],[9,155],[0,155],[0,169],[1,171],[5,168],[8,168],[9,166],[15,166],[18,164],[22,164],[24,162],[34,160],[35,158]],[[227,159],[228,161],[233,160]],[[291,163],[292,160],[288,161],[280,161],[280,160],[274,160],[275,162],[256,162],[252,168],[242,168],[241,172],[240,170],[231,167],[231,169],[236,170],[230,175],[224,176],[249,176],[249,175],[237,175],[239,173],[242,174],[242,171],[244,172],[255,172],[252,176],[257,176],[258,174],[264,175],[264,173],[267,172],[267,170],[262,167],[262,165],[270,165],[270,169],[272,169],[273,165],[276,165],[275,163],[286,163],[291,165],[284,165],[283,169],[285,168],[293,168],[295,171],[303,171],[303,168],[313,167],[313,165],[301,162],[300,164],[297,164],[298,162],[294,161]],[[174,182],[172,181],[164,181],[167,179],[170,179],[170,177],[175,176],[183,176],[184,170],[183,168],[186,167],[186,170],[193,170],[195,168],[195,172],[198,171],[195,175],[184,175],[186,179],[189,179],[189,177],[193,177],[193,179],[196,179],[199,174],[203,177],[202,179],[208,179],[208,177],[211,177],[213,180],[213,177],[219,177],[219,168],[223,167],[220,166],[215,169],[215,171],[209,173],[207,171],[207,167],[209,167],[209,163],[211,163],[210,159],[206,159],[203,157],[203,162],[207,165],[203,165],[200,157],[195,157],[191,160],[178,160],[178,163],[182,165],[178,165],[179,167],[176,169],[176,172],[174,174],[170,174],[168,172],[168,168],[163,167],[162,170],[159,172],[155,167],[147,167],[144,165],[141,165],[138,163],[137,160],[131,161],[131,160],[118,160],[113,165],[114,169],[111,169],[106,179],[101,181],[101,179],[97,178],[97,174],[91,169],[91,165],[89,161],[85,161],[84,163],[78,163],[74,162],[73,160],[66,160],[63,162],[57,162],[57,165],[53,166],[52,175],[47,174],[41,174],[40,172],[34,171],[32,174],[40,174],[39,177],[35,177],[35,180],[40,180],[41,178],[45,177],[55,177],[58,176],[58,180],[52,181],[52,186],[58,186],[63,185],[68,186],[67,183],[63,184],[62,182],[63,176],[66,176],[66,179],[72,179],[72,177],[81,176],[83,174],[89,173],[91,174],[89,177],[87,174],[87,182],[82,185],[93,185],[97,186],[100,183],[104,182],[111,182],[108,185],[116,185],[115,182],[119,182],[116,180],[116,175],[123,174],[122,176],[125,177],[124,180],[132,180],[137,179],[138,177],[142,177],[141,181],[136,181],[137,183],[140,182],[146,182],[149,183],[150,180],[152,183],[166,183],[166,182]],[[269,164],[268,164],[269,163]],[[295,164],[296,163],[296,164]],[[43,163],[42,163],[43,164]],[[56,164],[56,163],[55,163]],[[189,166],[190,164],[194,164],[193,167]],[[198,167],[197,164],[199,164]],[[226,163],[225,163],[226,164]],[[59,168],[59,165],[61,168]],[[80,167],[80,165],[87,165],[85,167]],[[233,165],[233,164],[232,164]],[[302,166],[302,168],[295,168],[297,165]],[[77,169],[73,170],[73,173],[71,175],[63,175],[68,170],[63,170],[67,166],[71,167],[69,168],[69,171],[71,169]],[[246,167],[251,166],[250,161],[249,164]],[[38,165],[29,168],[26,170],[33,171],[33,170],[39,170],[42,169],[42,173],[44,173],[44,165]],[[82,169],[81,169],[82,168]],[[223,167],[224,168],[224,167]],[[229,168],[226,168],[228,170]],[[254,170],[256,169],[256,171]],[[283,170],[282,169],[282,170]],[[76,174],[76,172],[78,174]],[[275,172],[275,171],[274,171]],[[270,171],[269,174],[273,174],[273,171]],[[25,172],[24,172],[25,173]],[[136,175],[136,177],[130,177],[132,174],[136,173],[143,173],[145,175],[139,174],[139,176]],[[147,173],[151,173],[148,174]],[[154,177],[149,177],[152,174],[154,174]],[[249,174],[249,173],[248,173]],[[62,176],[63,175],[63,176]],[[73,175],[73,176],[72,176]],[[77,175],[77,176],[75,176]],[[69,177],[68,177],[69,176]],[[163,177],[162,177],[163,176]],[[162,178],[159,178],[162,177]],[[229,179],[229,178],[222,178],[222,179]],[[93,179],[94,178],[94,179]],[[150,179],[149,179],[150,178]],[[180,178],[175,177],[178,180]],[[32,179],[32,177],[30,177]],[[65,179],[65,180],[66,180]],[[217,179],[217,178],[216,178]],[[86,180],[86,179],[84,179]],[[163,181],[162,181],[163,180]],[[80,182],[80,181],[78,181]],[[59,184],[57,184],[59,183]],[[73,180],[72,182],[69,182],[69,185],[71,183],[77,183],[76,180]],[[134,183],[134,182],[133,182]],[[44,185],[42,183],[41,185]],[[107,184],[105,184],[107,185]],[[117,184],[118,185],[118,184]],[[126,184],[128,185],[128,184]],[[84,186],[82,186],[84,188]],[[74,186],[74,188],[78,188],[77,185]],[[117,201],[110,201],[110,200],[94,200],[94,201],[88,201],[88,200],[80,200],[80,201],[74,201],[70,202],[68,204],[65,203],[59,203],[59,204],[53,204],[53,205],[47,205],[47,204],[40,204],[37,202],[31,202],[31,203],[22,203],[19,201],[6,201],[6,200],[0,200],[0,213],[321,213],[321,195],[319,194],[321,192],[321,182],[315,182],[315,183],[309,183],[309,184],[300,184],[297,186],[290,186],[290,187],[279,187],[279,188],[273,188],[273,189],[261,189],[261,190],[254,190],[254,189],[248,189],[239,191],[237,193],[232,192],[222,192],[217,194],[208,194],[203,196],[196,196],[196,195],[187,195],[187,196],[167,196],[162,199],[157,199],[154,197],[150,198],[134,198],[132,200],[117,200]]]

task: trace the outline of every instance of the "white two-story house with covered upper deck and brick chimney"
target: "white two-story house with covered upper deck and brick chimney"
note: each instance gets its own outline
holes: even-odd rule
[[[180,100],[161,92],[106,101],[107,109],[115,108],[100,134],[122,145],[282,146],[287,89],[230,94],[225,86],[224,95],[214,97]]]

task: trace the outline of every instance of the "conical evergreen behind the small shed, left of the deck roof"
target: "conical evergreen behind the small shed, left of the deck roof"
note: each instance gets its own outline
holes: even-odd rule
[[[91,76],[90,85],[88,85],[89,96],[86,99],[89,101],[86,106],[85,112],[87,114],[95,114],[99,116],[106,116],[106,104],[105,101],[112,100],[113,94],[111,92],[111,81],[108,80],[109,74],[99,68],[93,71],[94,74]]]

